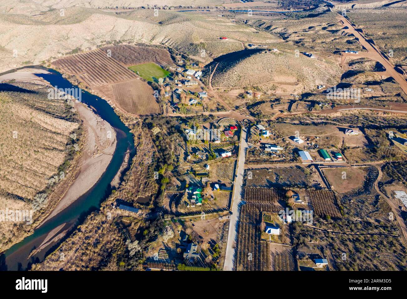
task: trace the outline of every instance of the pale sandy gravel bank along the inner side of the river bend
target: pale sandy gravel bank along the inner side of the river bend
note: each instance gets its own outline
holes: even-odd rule
[[[35,74],[50,74],[47,70],[25,68],[3,74],[0,82],[14,80],[16,82],[33,83],[51,86],[50,83]],[[70,172],[48,196],[48,207],[44,214],[37,218],[31,229],[18,236],[7,248],[31,235],[50,218],[85,194],[101,178],[112,160],[116,148],[116,131],[112,126],[97,116],[92,109],[83,103],[74,103],[74,109],[80,116],[83,126],[80,153],[71,163]],[[52,238],[51,238],[52,239]],[[48,240],[48,244],[51,240]],[[7,249],[6,248],[6,249]]]

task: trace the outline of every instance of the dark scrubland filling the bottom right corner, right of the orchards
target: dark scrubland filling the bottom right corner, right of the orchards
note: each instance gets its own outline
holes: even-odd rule
[[[374,190],[378,170],[370,166],[364,171],[363,186],[341,194],[340,219],[314,217],[312,227],[294,223],[295,246],[309,251],[318,243],[331,270],[405,270],[397,223],[389,219],[387,201]]]

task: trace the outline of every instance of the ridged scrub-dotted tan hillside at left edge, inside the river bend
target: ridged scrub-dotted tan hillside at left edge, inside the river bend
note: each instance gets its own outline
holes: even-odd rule
[[[46,194],[48,200],[34,212],[34,221],[57,203],[58,196],[48,194],[49,179],[69,170],[75,156],[70,134],[77,133],[78,142],[81,132],[72,107],[47,96],[44,85],[0,84],[0,210],[33,210],[37,194]],[[10,221],[0,228],[2,251],[33,225]]]

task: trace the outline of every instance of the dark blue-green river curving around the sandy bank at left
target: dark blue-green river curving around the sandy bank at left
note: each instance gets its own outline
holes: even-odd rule
[[[68,80],[64,79],[59,72],[53,69],[43,68],[41,66],[29,66],[27,68],[41,68],[48,70],[50,74],[37,74],[37,76],[44,78],[51,85],[57,86],[58,88],[65,89],[77,87],[72,85]],[[79,197],[79,199],[74,201],[65,210],[59,212],[59,214],[35,229],[33,234],[27,236],[21,242],[14,244],[9,250],[0,255],[0,270],[27,270],[31,267],[31,264],[42,262],[46,255],[53,252],[62,240],[57,242],[57,244],[54,243],[49,245],[28,259],[31,251],[37,248],[44,241],[48,233],[56,227],[66,223],[66,225],[59,231],[70,229],[70,232],[68,233],[69,235],[77,225],[83,222],[90,212],[98,210],[100,204],[112,192],[110,183],[119,171],[120,166],[123,164],[127,151],[130,152],[129,164],[135,155],[133,134],[130,133],[129,128],[123,124],[114,112],[114,109],[102,98],[86,91],[82,93],[81,100],[83,103],[92,106],[94,112],[109,122],[109,124],[115,129],[117,143],[112,160],[101,178],[94,186],[92,186],[92,188],[90,188],[90,190],[88,190],[88,192]],[[127,169],[125,169],[125,171]]]

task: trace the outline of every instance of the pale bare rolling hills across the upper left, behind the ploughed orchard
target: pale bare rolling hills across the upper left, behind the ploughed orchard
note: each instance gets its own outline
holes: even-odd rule
[[[219,40],[224,35],[228,41]],[[193,12],[160,10],[155,15],[153,9],[140,9],[116,14],[72,7],[63,16],[57,10],[35,16],[8,14],[0,15],[0,72],[113,42],[162,44],[210,62],[241,50],[242,43],[278,40],[276,35],[226,18]]]

